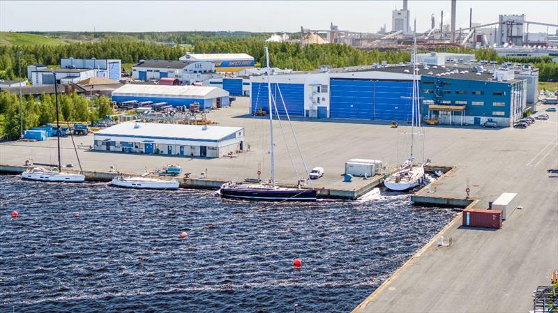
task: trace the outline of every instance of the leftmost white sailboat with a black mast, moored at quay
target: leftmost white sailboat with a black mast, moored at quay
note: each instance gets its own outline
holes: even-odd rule
[[[53,73],[53,75],[55,75]],[[45,169],[44,167],[31,167],[22,173],[23,179],[29,179],[31,181],[52,181],[58,183],[83,183],[85,181],[85,175],[83,174],[82,165],[80,163],[80,157],[77,155],[77,150],[74,151],[77,157],[77,162],[80,163],[80,174],[70,174],[62,171],[61,159],[60,159],[60,120],[59,120],[59,110],[58,110],[58,84],[56,84],[56,75],[54,77],[54,99],[56,102],[56,142],[57,142],[57,153],[58,153],[58,167],[54,169]],[[72,138],[73,141],[73,138]]]

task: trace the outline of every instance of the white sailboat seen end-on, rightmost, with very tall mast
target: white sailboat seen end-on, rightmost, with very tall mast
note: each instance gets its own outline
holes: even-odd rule
[[[404,191],[420,185],[424,178],[424,163],[414,165],[413,144],[415,125],[421,128],[421,105],[418,95],[418,64],[416,63],[416,37],[413,48],[413,94],[412,94],[412,122],[411,122],[411,155],[403,162],[398,171],[384,180],[386,188],[394,191]]]

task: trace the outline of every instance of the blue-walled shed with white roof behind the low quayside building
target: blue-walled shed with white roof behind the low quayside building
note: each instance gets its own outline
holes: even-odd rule
[[[174,107],[190,107],[198,103],[199,109],[209,110],[230,104],[229,93],[217,87],[207,86],[163,86],[147,84],[126,84],[112,92],[112,100],[167,102]]]

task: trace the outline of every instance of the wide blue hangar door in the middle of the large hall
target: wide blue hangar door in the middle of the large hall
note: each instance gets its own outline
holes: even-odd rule
[[[411,119],[412,82],[331,79],[330,86],[331,118]]]

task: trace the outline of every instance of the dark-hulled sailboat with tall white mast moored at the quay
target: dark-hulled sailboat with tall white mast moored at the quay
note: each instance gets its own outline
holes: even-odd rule
[[[221,185],[219,194],[223,198],[262,200],[262,201],[316,201],[314,189],[283,188],[276,185],[275,155],[273,147],[273,105],[271,104],[271,80],[269,69],[269,51],[266,51],[267,93],[269,100],[269,133],[271,137],[271,181],[270,184],[237,184],[228,182]]]

